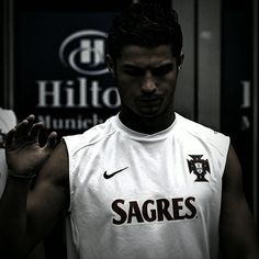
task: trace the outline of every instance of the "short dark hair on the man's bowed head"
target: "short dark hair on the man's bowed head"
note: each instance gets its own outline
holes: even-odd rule
[[[132,44],[150,48],[171,45],[172,55],[178,60],[182,48],[178,13],[158,1],[132,3],[113,20],[108,35],[108,50],[115,59],[123,47]]]

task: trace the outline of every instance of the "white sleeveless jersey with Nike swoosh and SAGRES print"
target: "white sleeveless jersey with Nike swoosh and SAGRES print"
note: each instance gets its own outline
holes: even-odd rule
[[[146,135],[116,115],[65,142],[78,258],[217,258],[228,137],[179,114]]]

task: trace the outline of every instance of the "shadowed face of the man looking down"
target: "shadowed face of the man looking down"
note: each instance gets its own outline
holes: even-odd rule
[[[172,111],[178,67],[169,45],[125,46],[113,69],[123,111],[142,117]]]

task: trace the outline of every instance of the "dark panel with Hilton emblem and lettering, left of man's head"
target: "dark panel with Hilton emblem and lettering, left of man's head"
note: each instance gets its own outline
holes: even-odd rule
[[[81,133],[117,112],[106,66],[113,12],[23,12],[15,43],[14,110],[47,132]]]

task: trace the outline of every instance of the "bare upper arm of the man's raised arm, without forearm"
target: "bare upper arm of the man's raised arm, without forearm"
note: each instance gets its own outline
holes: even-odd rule
[[[68,158],[61,143],[40,172],[27,196],[27,244],[36,245],[64,216],[69,203]]]

